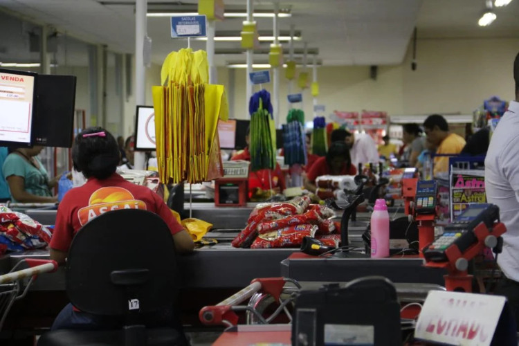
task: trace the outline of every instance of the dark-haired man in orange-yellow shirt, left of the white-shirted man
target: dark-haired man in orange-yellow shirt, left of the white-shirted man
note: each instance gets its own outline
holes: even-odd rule
[[[427,140],[437,147],[436,154],[459,154],[465,147],[462,136],[453,134],[448,129],[447,120],[439,114],[432,114],[424,121]],[[448,156],[435,157],[434,176],[448,173]]]

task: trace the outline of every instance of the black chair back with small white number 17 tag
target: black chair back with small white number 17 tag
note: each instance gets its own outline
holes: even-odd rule
[[[83,226],[66,262],[66,292],[81,311],[104,316],[171,307],[179,269],[170,229],[145,210],[106,212]]]

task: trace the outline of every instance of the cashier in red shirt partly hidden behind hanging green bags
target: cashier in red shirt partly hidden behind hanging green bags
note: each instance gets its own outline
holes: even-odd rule
[[[247,132],[245,134],[245,143],[247,143],[247,147],[243,152],[236,154],[233,156],[231,161],[235,160],[244,160],[251,161],[251,153],[248,152],[249,145],[249,134],[251,133],[251,127],[247,127]],[[271,172],[271,180],[272,180],[272,189],[275,192],[283,192],[286,188],[284,183],[283,172],[281,172],[281,167],[277,163],[275,164],[275,170],[259,170],[256,172],[248,171],[248,197],[251,198],[254,190],[260,188],[262,190],[270,190],[271,184],[268,183],[268,171]]]

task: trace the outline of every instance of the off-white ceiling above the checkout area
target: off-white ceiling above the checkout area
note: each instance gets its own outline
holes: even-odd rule
[[[88,42],[107,44],[111,51],[133,53],[133,1],[110,2],[111,5],[104,6],[97,0],[0,0],[0,9],[52,24],[58,30]],[[153,4],[155,0],[148,2],[150,9],[158,6]],[[170,3],[177,6],[180,1]],[[183,1],[186,6],[196,7],[196,3],[197,0]],[[224,3],[228,7],[244,8],[246,1],[224,0]],[[519,37],[519,0],[512,1],[507,8],[496,9],[498,19],[487,28],[477,26],[484,0],[282,0],[280,7],[291,8],[292,13],[290,18],[279,19],[280,30],[289,30],[293,24],[295,30],[301,31],[304,42],[310,48],[318,49],[318,57],[325,65],[399,64],[415,26],[419,38]],[[255,0],[255,8],[272,9],[272,1]],[[217,35],[221,30],[239,32],[242,20],[217,22]],[[260,30],[272,30],[272,19],[256,21]],[[0,28],[2,25],[0,23]],[[148,17],[147,28],[153,40],[152,59],[158,64],[170,51],[187,45],[185,39],[170,38],[167,17]],[[21,28],[20,37],[23,37],[24,29]],[[8,39],[2,35],[0,30],[0,60],[6,55],[1,48],[6,42],[4,39]],[[17,45],[19,51],[24,51],[28,45],[26,41],[28,39],[18,38],[15,44],[8,45]],[[71,58],[75,51],[74,40],[67,42],[68,61],[71,62],[74,60]],[[302,42],[295,42],[295,47],[302,48]],[[193,41],[192,48],[203,49],[205,42]],[[217,50],[230,48],[239,49],[239,42],[216,42]],[[268,44],[262,44],[262,48],[265,50]],[[28,57],[27,54],[19,55],[18,59]],[[244,60],[244,54],[219,54],[216,57],[221,66]],[[255,55],[256,62],[266,60],[266,55]]]

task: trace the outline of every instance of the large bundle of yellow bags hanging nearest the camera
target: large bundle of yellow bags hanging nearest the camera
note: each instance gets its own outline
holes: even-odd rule
[[[223,176],[218,120],[228,119],[223,85],[208,84],[205,51],[167,55],[153,87],[158,172],[163,183],[201,183]]]

